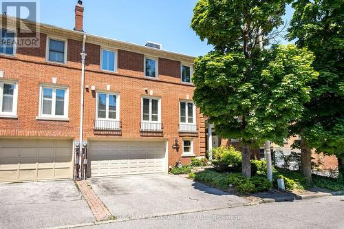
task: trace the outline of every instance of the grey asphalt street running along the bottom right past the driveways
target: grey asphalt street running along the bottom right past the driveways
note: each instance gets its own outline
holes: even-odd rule
[[[344,228],[344,197],[228,208],[89,228]]]

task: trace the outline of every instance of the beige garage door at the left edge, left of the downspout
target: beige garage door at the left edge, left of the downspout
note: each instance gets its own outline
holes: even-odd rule
[[[0,138],[0,182],[72,178],[72,140]]]

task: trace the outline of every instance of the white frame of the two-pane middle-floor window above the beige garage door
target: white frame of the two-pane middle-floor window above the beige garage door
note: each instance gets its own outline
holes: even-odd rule
[[[52,88],[52,114],[47,115],[43,114],[43,88]],[[55,105],[56,105],[56,89],[64,89],[65,90],[65,107],[63,108],[64,115],[63,116],[56,116],[55,113]],[[39,116],[36,117],[37,120],[69,120],[69,88],[62,85],[49,85],[49,84],[41,84],[39,85]]]

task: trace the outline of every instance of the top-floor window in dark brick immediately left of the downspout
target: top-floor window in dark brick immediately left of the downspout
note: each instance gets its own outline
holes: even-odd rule
[[[47,60],[57,63],[65,63],[67,58],[66,43],[66,41],[48,39]]]

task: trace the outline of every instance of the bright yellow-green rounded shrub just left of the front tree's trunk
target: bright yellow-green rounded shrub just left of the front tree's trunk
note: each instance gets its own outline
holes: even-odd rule
[[[233,146],[218,147],[213,149],[213,165],[218,171],[229,171],[228,166],[233,166],[234,171],[241,168],[241,153],[236,151]]]

